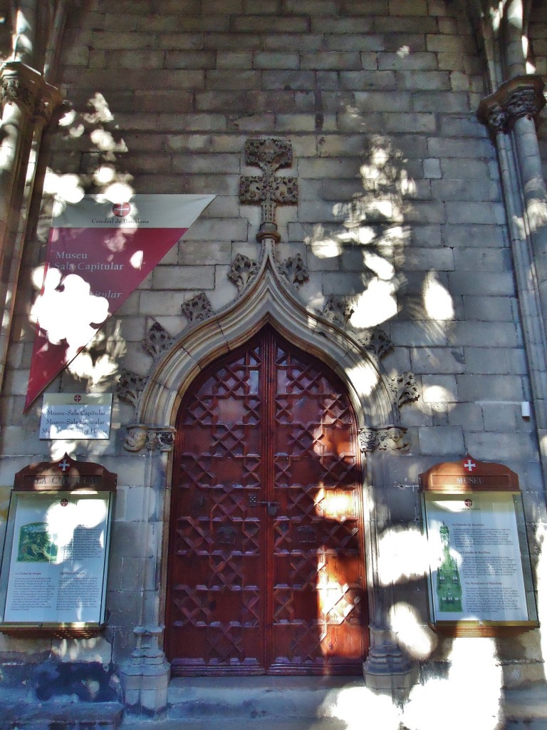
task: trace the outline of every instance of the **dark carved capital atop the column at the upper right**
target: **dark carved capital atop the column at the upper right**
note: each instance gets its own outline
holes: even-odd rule
[[[481,101],[477,118],[488,128],[492,138],[500,132],[506,134],[511,131],[521,117],[533,119],[538,126],[540,111],[546,104],[544,88],[540,76],[516,76]]]

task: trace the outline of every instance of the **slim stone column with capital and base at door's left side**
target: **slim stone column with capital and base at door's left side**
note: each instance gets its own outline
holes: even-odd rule
[[[165,626],[161,623],[160,565],[163,554],[163,511],[166,502],[168,453],[174,443],[174,429],[139,424],[128,428],[125,448],[138,451],[146,447],[147,497],[143,505],[141,529],[141,610],[139,626],[133,629],[136,648],[120,669],[125,708],[129,714],[161,718],[167,708],[170,665],[160,641]]]

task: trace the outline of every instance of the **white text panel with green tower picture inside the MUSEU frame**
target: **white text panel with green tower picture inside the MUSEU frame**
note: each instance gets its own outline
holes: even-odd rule
[[[529,621],[520,508],[508,491],[424,493],[433,623]]]

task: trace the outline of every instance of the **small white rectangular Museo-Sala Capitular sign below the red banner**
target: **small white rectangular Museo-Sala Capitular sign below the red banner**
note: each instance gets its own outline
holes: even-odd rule
[[[112,393],[44,393],[41,439],[108,439]]]

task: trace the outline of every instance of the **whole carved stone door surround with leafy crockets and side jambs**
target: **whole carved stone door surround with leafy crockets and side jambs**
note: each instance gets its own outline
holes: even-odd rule
[[[230,278],[239,291],[235,301],[227,307],[214,312],[202,293],[185,304],[183,311],[190,326],[179,337],[171,337],[158,323],[152,326],[149,337],[143,342],[153,358],[150,374],[138,377],[125,372],[120,378],[118,394],[135,406],[135,422],[127,428],[125,448],[133,452],[147,450],[154,462],[148,472],[155,480],[157,490],[158,487],[161,490],[158,479],[163,480],[163,523],[160,528],[163,539],[158,535],[155,539],[158,548],[162,542],[165,546],[169,516],[165,493],[171,485],[174,423],[182,396],[195,375],[222,354],[247,342],[266,324],[273,326],[293,345],[327,364],[346,385],[352,400],[366,475],[363,483],[364,512],[368,515],[365,519],[365,553],[372,621],[371,651],[365,663],[365,677],[375,688],[400,688],[408,683],[410,666],[386,627],[386,611],[378,581],[378,521],[373,485],[384,480],[382,463],[388,451],[408,450],[406,429],[400,425],[399,406],[418,397],[414,376],[404,373],[395,378],[387,377],[380,360],[391,347],[389,339],[381,330],[363,334],[352,329],[347,323],[351,303],[346,298],[331,296],[321,312],[306,308],[292,290],[292,286],[303,279],[300,261],[294,259],[280,264],[276,259],[274,238],[264,238],[262,246],[260,263],[241,255],[236,257],[236,268],[233,267]],[[150,501],[150,515],[143,514],[143,523],[152,519],[152,511],[158,513],[158,500]],[[159,643],[166,588],[165,555],[162,563],[161,593],[143,599],[142,626],[135,629],[134,661],[124,670],[125,685],[136,691],[134,696],[141,691],[143,678],[150,677],[150,671],[156,672],[158,682],[166,691],[168,664]],[[395,683],[394,675],[398,677]]]

